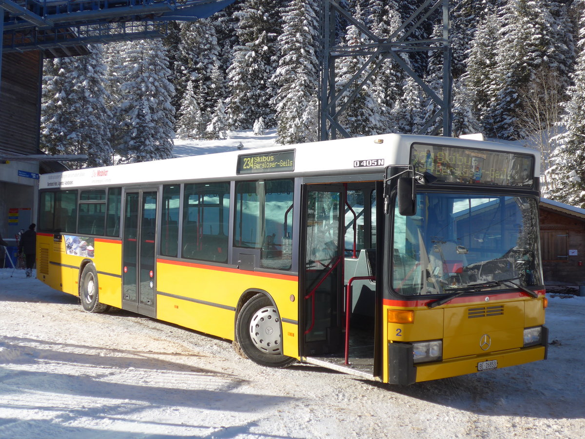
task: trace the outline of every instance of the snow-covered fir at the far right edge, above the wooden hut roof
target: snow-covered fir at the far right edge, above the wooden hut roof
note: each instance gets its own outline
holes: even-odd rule
[[[558,146],[551,157],[553,166],[546,173],[550,198],[585,208],[585,12],[580,20],[579,37],[579,56],[563,116],[566,132],[556,138]]]

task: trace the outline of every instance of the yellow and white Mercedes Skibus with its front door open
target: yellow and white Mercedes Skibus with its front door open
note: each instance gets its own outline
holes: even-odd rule
[[[407,385],[546,358],[538,200],[534,150],[417,135],[45,174],[37,277]]]

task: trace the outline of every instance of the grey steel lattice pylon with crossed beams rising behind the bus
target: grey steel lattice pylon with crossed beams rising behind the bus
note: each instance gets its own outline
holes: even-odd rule
[[[412,33],[419,29],[422,23],[435,12],[442,11],[442,37],[435,39],[415,40],[408,39]],[[449,42],[449,0],[425,0],[421,6],[404,20],[400,28],[395,30],[387,38],[376,36],[366,25],[354,18],[343,6],[339,0],[322,0],[321,6],[321,25],[322,25],[322,44],[323,55],[321,60],[321,93],[319,97],[319,137],[321,140],[335,139],[338,134],[342,137],[351,137],[346,129],[339,123],[339,116],[342,114],[349,103],[357,96],[363,85],[370,80],[380,69],[384,60],[393,59],[418,85],[426,95],[431,98],[439,108],[433,114],[421,133],[426,132],[439,118],[443,117],[442,132],[443,136],[451,136],[452,113],[451,113],[451,90],[452,78],[450,74],[451,49]],[[371,44],[362,46],[336,46],[336,20],[342,18],[351,25],[356,26],[360,32],[364,33],[370,40]],[[430,52],[440,50],[443,52],[443,97],[439,97],[421,77],[408,66],[402,59],[400,53],[403,52]],[[336,90],[335,61],[341,57],[365,56],[366,61],[360,69],[347,81],[345,86]],[[366,77],[362,77],[364,71],[368,70]],[[339,98],[351,87],[353,93],[349,98],[340,104]]]

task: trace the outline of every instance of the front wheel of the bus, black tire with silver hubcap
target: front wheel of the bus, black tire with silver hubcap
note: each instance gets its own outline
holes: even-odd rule
[[[259,365],[284,368],[295,361],[282,354],[280,315],[264,294],[256,294],[242,307],[236,320],[236,340],[244,354]]]

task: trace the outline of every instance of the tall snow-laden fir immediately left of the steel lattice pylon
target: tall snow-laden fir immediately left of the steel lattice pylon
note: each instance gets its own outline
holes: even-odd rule
[[[318,0],[291,0],[282,9],[283,33],[278,37],[277,142],[304,143],[318,138],[319,46]]]

